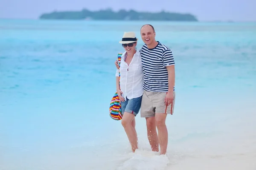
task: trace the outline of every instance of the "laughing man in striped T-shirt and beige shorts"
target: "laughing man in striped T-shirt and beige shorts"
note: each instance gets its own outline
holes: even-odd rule
[[[142,26],[140,34],[145,43],[140,50],[144,74],[140,115],[146,119],[152,151],[158,152],[160,145],[160,154],[166,154],[166,116],[168,113],[173,114],[175,104],[175,61],[172,51],[155,40],[153,26]]]

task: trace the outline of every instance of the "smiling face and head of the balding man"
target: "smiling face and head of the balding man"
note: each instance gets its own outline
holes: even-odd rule
[[[145,25],[140,29],[140,35],[146,45],[151,45],[155,41],[155,32],[151,26]]]

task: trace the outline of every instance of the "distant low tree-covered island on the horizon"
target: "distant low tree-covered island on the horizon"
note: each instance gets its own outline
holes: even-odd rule
[[[117,12],[111,9],[89,11],[54,11],[42,14],[41,20],[155,20],[155,21],[198,21],[192,14],[180,14],[170,12],[137,12],[124,9]]]

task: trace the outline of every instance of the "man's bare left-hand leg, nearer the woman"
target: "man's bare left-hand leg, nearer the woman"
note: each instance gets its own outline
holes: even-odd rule
[[[151,145],[152,151],[159,151],[158,137],[157,137],[157,128],[155,117],[147,117],[147,131],[148,131],[148,141]]]

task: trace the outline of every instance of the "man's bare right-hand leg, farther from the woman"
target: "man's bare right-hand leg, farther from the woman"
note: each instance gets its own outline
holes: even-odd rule
[[[168,131],[166,127],[166,113],[156,113],[156,125],[158,131],[158,141],[160,145],[160,155],[166,154],[168,144]]]

